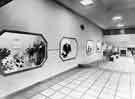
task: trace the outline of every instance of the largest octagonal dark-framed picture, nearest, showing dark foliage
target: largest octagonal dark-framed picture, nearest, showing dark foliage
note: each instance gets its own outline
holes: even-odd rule
[[[47,59],[42,34],[3,30],[0,36],[0,71],[11,74],[40,67]]]

